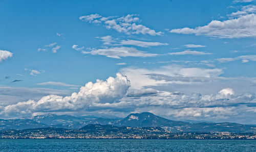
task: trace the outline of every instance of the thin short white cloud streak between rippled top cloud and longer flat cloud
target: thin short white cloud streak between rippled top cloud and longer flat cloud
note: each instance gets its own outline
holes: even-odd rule
[[[120,45],[135,45],[135,46],[140,46],[140,47],[169,45],[168,43],[144,42],[144,41],[137,41],[137,40],[121,40],[119,44]]]

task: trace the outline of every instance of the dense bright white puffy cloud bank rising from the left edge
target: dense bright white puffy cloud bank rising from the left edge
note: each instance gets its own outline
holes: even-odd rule
[[[47,95],[38,102],[28,100],[4,107],[0,115],[6,117],[31,115],[40,111],[69,111],[88,109],[94,104],[112,104],[122,98],[130,87],[129,80],[122,74],[117,73],[116,78],[108,78],[106,81],[97,80],[89,82],[80,88],[78,93],[70,96]]]

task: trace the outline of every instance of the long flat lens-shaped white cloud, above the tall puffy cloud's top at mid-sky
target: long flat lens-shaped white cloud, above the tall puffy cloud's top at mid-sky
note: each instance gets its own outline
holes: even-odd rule
[[[110,47],[93,49],[90,52],[82,51],[83,54],[101,55],[109,58],[120,59],[121,57],[155,57],[157,54],[143,52],[134,47]]]

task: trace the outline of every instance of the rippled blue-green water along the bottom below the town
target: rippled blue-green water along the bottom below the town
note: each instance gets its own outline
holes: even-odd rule
[[[0,151],[256,151],[256,140],[3,139]]]

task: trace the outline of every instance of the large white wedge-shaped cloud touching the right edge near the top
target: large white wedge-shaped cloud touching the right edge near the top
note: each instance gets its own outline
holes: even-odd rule
[[[224,21],[212,20],[209,24],[195,29],[173,29],[170,33],[195,34],[216,38],[243,38],[256,36],[256,15],[248,14]]]

